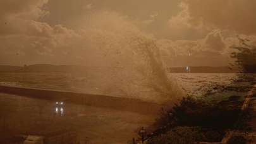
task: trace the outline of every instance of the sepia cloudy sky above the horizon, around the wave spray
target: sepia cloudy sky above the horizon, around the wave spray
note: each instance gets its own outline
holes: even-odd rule
[[[256,44],[255,8],[252,0],[1,0],[0,64],[106,66],[143,37],[167,66],[226,66],[238,37]]]

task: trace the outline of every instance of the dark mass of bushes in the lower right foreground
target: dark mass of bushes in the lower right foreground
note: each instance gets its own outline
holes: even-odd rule
[[[207,102],[185,97],[170,111],[162,111],[149,143],[192,143],[221,141],[240,116],[241,104]]]

